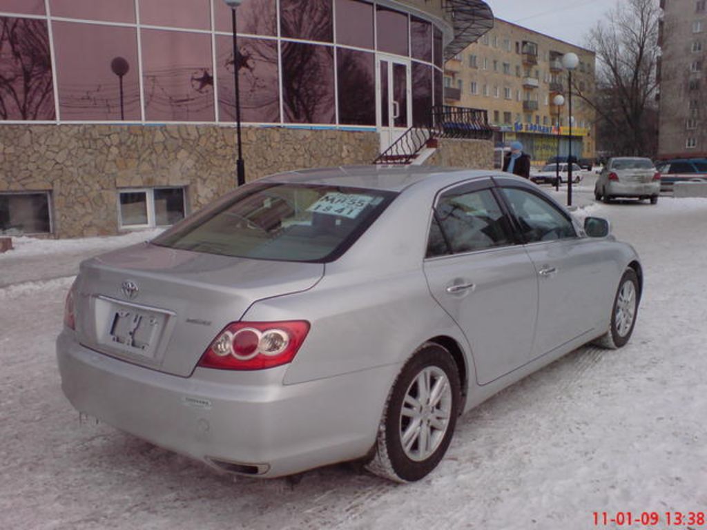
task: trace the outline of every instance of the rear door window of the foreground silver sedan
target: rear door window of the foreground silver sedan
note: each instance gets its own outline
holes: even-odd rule
[[[435,208],[427,257],[512,245],[508,221],[489,189],[443,194]]]

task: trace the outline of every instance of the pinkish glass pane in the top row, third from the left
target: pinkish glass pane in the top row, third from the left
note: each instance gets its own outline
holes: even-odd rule
[[[140,22],[174,28],[211,28],[209,0],[140,0]]]

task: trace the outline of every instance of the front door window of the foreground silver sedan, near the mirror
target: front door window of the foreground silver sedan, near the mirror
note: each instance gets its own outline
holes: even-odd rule
[[[501,188],[528,243],[577,237],[572,221],[546,199],[519,188]]]

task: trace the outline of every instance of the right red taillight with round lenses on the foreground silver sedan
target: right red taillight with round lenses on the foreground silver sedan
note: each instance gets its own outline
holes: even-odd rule
[[[263,370],[291,363],[310,329],[309,322],[233,322],[201,355],[199,366],[221,370]]]

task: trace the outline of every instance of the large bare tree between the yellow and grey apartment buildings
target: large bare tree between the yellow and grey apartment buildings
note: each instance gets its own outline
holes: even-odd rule
[[[622,0],[590,30],[597,86],[572,90],[597,112],[600,150],[607,146],[612,155],[653,156],[658,150],[659,18],[658,0]]]

